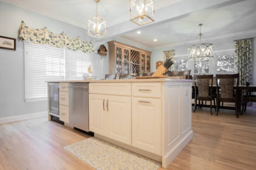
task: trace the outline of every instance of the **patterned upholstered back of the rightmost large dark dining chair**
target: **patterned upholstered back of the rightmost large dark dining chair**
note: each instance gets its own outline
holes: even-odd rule
[[[222,99],[234,98],[234,86],[239,84],[239,74],[216,74],[217,95]]]

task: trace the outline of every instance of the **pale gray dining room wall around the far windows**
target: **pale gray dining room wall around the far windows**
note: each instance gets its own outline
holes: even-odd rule
[[[249,37],[254,37],[253,41],[253,48],[254,48],[254,54],[253,54],[253,82],[254,85],[256,85],[256,58],[255,58],[255,49],[256,49],[256,33],[253,33],[250,35],[247,35],[246,32],[242,35],[233,35],[231,37],[225,37],[208,40],[208,42],[212,42],[214,44],[214,57],[217,57],[219,55],[225,55],[225,54],[234,54],[234,40],[238,39],[245,39]],[[178,46],[167,46],[164,48],[159,48],[152,50],[151,55],[151,71],[155,71],[155,62],[164,59],[164,53],[165,50],[175,50],[175,57],[179,59],[187,59],[188,57],[188,46],[194,44],[194,43],[188,43]]]

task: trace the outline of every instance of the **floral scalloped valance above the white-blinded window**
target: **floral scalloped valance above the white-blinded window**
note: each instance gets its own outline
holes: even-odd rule
[[[72,39],[64,32],[53,34],[46,27],[35,29],[28,27],[24,22],[20,24],[18,40],[27,40],[34,44],[49,44],[57,48],[68,48],[73,51],[82,51],[84,53],[93,53],[94,47],[92,41],[82,41],[80,37]]]

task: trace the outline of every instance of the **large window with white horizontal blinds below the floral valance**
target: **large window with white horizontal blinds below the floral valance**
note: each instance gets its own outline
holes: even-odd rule
[[[92,54],[24,42],[25,99],[46,100],[46,81],[82,80]]]

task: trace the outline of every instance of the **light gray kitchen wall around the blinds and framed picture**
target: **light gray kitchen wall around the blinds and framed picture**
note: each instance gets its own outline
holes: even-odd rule
[[[88,41],[86,29],[59,20],[48,18],[35,12],[24,10],[7,3],[0,2],[0,35],[16,38],[21,21],[33,28],[47,27],[53,33],[65,32],[70,37],[79,36]],[[85,20],[86,22],[86,20]],[[95,44],[97,47],[100,44]],[[93,54],[92,70],[101,78],[108,71],[108,57],[101,59]],[[24,101],[24,44],[16,40],[16,50],[0,49],[0,117],[18,116],[47,111],[47,102]]]

